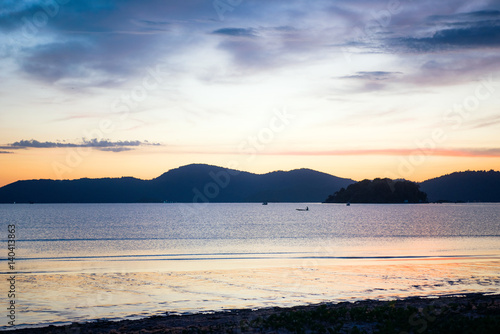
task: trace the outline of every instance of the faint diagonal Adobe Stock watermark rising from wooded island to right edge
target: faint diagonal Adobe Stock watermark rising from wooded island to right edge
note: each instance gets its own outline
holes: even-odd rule
[[[473,93],[464,97],[462,101],[453,104],[443,114],[442,120],[448,125],[435,128],[426,139],[415,141],[417,148],[410,155],[401,157],[396,171],[387,172],[385,177],[399,179],[409,178],[413,175],[415,170],[427,161],[429,155],[432,155],[439,145],[446,142],[448,139],[447,133],[458,130],[477,111],[481,102],[493,96],[497,84],[492,74],[481,78]]]

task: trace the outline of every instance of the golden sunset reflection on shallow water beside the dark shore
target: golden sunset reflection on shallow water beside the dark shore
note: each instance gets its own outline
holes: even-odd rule
[[[498,258],[254,261],[85,262],[78,271],[75,262],[74,272],[26,273],[20,322],[500,291]]]

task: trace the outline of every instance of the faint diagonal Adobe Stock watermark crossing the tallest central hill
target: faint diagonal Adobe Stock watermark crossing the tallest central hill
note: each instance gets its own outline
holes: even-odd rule
[[[192,203],[179,205],[183,216],[197,214],[203,205],[207,205],[217,198],[221,191],[229,186],[231,178],[239,174],[238,168],[241,164],[255,161],[259,152],[268,147],[279,133],[285,131],[295,118],[296,116],[289,113],[286,108],[274,110],[267,126],[248,136],[237,145],[237,152],[241,156],[240,160],[229,161],[226,164],[226,170],[218,173],[210,172],[211,181],[207,182],[202,189],[196,187],[192,189]]]

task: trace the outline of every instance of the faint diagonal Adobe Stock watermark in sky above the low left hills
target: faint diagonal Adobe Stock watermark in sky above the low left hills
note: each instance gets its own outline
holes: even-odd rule
[[[123,93],[119,98],[113,100],[110,106],[110,114],[114,117],[103,118],[92,129],[83,131],[84,141],[95,140],[97,142],[106,139],[116,131],[117,127],[125,122],[135,109],[141,103],[147,100],[150,94],[161,88],[166,82],[168,71],[166,65],[158,64],[154,68],[146,69],[146,75],[139,84],[135,85],[127,93]],[[84,161],[84,158],[92,154],[92,147],[82,146],[68,149],[64,161],[53,161],[52,170],[57,178],[61,179],[64,175],[71,173],[78,168]]]

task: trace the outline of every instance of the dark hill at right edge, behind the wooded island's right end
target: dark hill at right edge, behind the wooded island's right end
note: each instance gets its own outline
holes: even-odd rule
[[[465,171],[421,183],[429,201],[500,202],[500,172]]]

